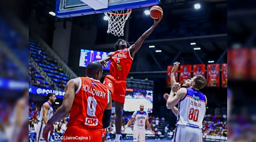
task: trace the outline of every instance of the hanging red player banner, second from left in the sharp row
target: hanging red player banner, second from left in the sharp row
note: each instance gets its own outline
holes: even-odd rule
[[[192,65],[180,65],[180,84],[183,84],[185,80],[191,78]]]

